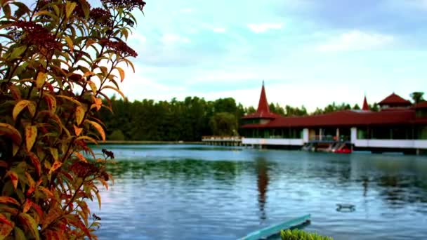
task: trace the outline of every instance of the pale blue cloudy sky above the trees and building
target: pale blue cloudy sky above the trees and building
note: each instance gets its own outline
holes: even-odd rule
[[[147,0],[130,100],[232,97],[313,111],[427,92],[426,0]],[[427,94],[427,93],[426,93]]]

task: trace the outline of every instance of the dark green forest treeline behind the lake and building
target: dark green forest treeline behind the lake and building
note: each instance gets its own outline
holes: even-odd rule
[[[199,141],[204,135],[239,135],[242,116],[256,112],[255,107],[243,107],[233,98],[206,101],[187,97],[168,101],[127,101],[111,99],[113,113],[103,108],[98,117],[104,120],[107,140]],[[378,110],[378,105],[370,106]],[[284,107],[270,104],[270,111],[282,116],[322,114],[344,109],[360,109],[358,105],[335,102],[309,113],[306,107]]]

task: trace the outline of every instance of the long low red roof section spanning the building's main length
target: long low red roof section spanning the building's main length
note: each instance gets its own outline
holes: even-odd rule
[[[383,124],[410,124],[415,120],[415,112],[411,109],[400,109],[386,112],[365,112],[346,110],[312,116],[280,117],[263,126],[247,124],[242,128],[282,128],[310,126],[361,126]]]

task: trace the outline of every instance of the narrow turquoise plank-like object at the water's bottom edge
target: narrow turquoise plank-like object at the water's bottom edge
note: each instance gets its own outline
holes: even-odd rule
[[[310,222],[310,214],[303,215],[299,218],[294,218],[291,220],[287,220],[285,222],[278,223],[276,225],[271,225],[268,227],[264,227],[263,229],[259,229],[255,232],[251,232],[246,236],[242,237],[240,240],[258,240],[258,239],[267,239],[269,236],[280,233],[281,230],[286,230],[291,227],[298,227]]]

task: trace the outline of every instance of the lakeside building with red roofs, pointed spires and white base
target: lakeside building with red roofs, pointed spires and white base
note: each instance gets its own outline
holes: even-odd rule
[[[270,112],[264,84],[258,109],[243,117],[244,145],[301,148],[325,145],[373,152],[419,152],[427,149],[427,102],[412,105],[392,93],[379,102],[379,112],[344,110],[310,116],[280,116]],[[341,145],[340,145],[341,144]]]

